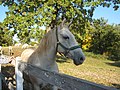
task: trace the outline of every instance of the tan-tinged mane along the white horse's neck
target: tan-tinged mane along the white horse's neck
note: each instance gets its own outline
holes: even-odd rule
[[[47,34],[45,34],[44,37],[41,39],[40,44],[36,49],[36,51],[39,52],[39,54],[43,53],[44,51],[46,52],[51,48],[51,46],[53,46],[52,44],[54,42],[53,33],[54,30],[49,30]]]

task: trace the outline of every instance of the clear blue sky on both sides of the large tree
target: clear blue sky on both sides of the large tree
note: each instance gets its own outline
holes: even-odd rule
[[[6,11],[8,11],[7,7],[0,5],[0,22],[6,17]],[[117,11],[114,11],[112,7],[97,7],[94,11],[93,18],[99,19],[101,17],[107,19],[109,24],[120,24],[120,8]]]

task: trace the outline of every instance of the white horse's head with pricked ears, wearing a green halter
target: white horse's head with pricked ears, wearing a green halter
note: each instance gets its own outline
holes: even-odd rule
[[[69,30],[69,25],[65,24],[65,20],[57,27],[57,51],[71,58],[75,65],[80,65],[85,60],[85,55],[78,45],[74,35]]]

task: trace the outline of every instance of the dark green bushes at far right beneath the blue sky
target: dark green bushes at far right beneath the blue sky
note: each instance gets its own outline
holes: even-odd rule
[[[95,20],[90,51],[120,60],[120,29],[104,19]]]

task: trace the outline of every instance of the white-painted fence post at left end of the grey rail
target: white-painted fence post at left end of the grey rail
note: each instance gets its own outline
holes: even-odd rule
[[[18,69],[20,61],[21,61],[21,58],[20,57],[16,57],[16,65],[15,65],[16,90],[23,90],[23,74]]]

